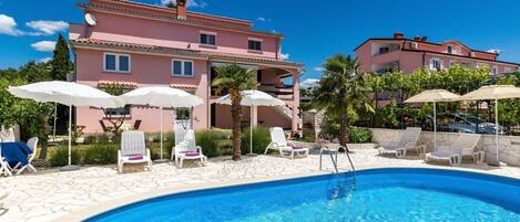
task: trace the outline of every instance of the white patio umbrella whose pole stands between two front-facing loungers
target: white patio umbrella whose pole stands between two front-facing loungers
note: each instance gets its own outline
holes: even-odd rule
[[[198,96],[185,91],[166,86],[150,86],[133,89],[120,96],[126,104],[155,106],[160,108],[161,120],[161,160],[163,159],[163,108],[192,108],[204,103]]]

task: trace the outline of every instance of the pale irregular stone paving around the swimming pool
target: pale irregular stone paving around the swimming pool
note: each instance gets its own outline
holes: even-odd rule
[[[520,179],[520,168],[488,167],[463,163],[460,167],[426,165],[418,157],[396,159],[380,157],[375,149],[354,150],[357,169],[383,167],[421,167],[470,170]],[[12,190],[9,210],[0,212],[0,221],[51,221],[74,211],[93,207],[109,200],[153,191],[157,188],[188,184],[212,184],[247,178],[290,176],[318,171],[319,156],[316,151],[308,158],[287,159],[277,156],[244,157],[232,161],[230,157],[212,158],[206,167],[197,162],[177,169],[171,162],[154,163],[151,171],[118,173],[115,166],[83,167],[79,171],[61,172],[58,169],[40,170],[38,173],[0,178],[0,190]],[[346,155],[339,155],[340,169],[348,169]],[[332,170],[330,159],[324,156],[325,170]]]

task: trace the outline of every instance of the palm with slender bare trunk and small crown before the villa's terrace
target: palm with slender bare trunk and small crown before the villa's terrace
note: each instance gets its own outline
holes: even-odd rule
[[[256,87],[256,75],[254,71],[247,71],[236,64],[220,66],[216,70],[213,86],[216,93],[227,92],[230,94],[231,115],[233,118],[233,160],[241,159],[241,123],[242,123],[242,91]]]

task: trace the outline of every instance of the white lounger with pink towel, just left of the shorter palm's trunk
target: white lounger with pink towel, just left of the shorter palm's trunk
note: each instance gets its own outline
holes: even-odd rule
[[[193,129],[188,129],[184,138],[173,147],[172,160],[175,160],[175,166],[182,168],[185,159],[200,159],[202,165],[206,166],[207,163],[207,157],[202,154],[202,147],[196,146]]]

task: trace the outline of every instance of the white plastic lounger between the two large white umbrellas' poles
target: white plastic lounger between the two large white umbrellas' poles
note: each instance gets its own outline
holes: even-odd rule
[[[142,159],[132,157],[142,156]],[[147,163],[152,170],[152,157],[144,141],[144,133],[137,130],[123,131],[121,135],[121,149],[118,150],[118,172],[123,172],[124,163]]]

